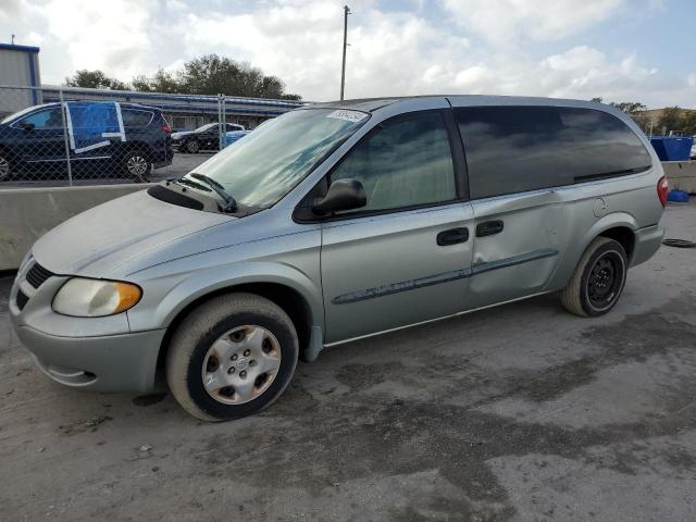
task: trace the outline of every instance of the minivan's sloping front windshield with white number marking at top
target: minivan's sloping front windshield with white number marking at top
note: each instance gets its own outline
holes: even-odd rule
[[[187,174],[203,174],[245,207],[265,208],[285,196],[369,114],[301,109],[270,120]],[[196,188],[196,187],[192,187]]]

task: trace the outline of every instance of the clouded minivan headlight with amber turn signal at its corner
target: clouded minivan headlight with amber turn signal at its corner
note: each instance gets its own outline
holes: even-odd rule
[[[101,318],[125,312],[142,296],[139,286],[119,281],[69,279],[53,298],[53,310],[63,315]]]

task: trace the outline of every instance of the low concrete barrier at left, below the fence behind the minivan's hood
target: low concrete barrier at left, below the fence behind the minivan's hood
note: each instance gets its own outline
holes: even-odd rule
[[[95,185],[0,190],[0,270],[18,268],[32,245],[69,217],[149,186]]]

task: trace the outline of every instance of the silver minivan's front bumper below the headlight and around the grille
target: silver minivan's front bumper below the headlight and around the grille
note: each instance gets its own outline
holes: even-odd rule
[[[8,308],[17,337],[39,369],[76,388],[151,390],[165,331],[130,332],[125,312],[105,318],[53,312],[53,296],[69,277],[51,275],[34,287],[26,277],[34,262],[28,258],[20,268]]]

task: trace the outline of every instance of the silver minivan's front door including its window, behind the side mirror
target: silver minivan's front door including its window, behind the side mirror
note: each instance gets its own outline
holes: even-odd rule
[[[473,212],[458,197],[449,136],[442,111],[398,116],[330,174],[360,181],[368,202],[322,225],[327,344],[464,308]]]

